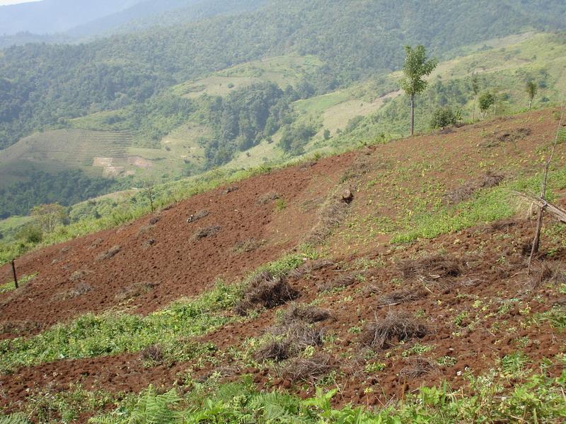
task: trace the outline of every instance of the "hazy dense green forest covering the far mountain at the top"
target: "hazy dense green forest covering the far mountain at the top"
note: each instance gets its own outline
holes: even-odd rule
[[[258,11],[115,35],[29,44],[0,61],[0,148],[65,119],[144,102],[166,87],[266,55],[315,54],[317,93],[396,69],[400,46],[432,54],[527,28],[563,28],[566,5],[539,1],[268,1]]]

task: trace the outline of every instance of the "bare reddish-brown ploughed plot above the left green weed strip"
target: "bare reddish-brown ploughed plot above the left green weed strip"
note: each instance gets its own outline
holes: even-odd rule
[[[183,296],[201,293],[216,278],[240,278],[299,243],[305,229],[317,219],[301,211],[300,204],[325,196],[353,157],[320,160],[308,171],[291,167],[253,177],[229,194],[219,188],[194,196],[162,211],[158,222],[139,237],[148,218],[28,254],[18,259],[18,273],[37,272],[37,278],[21,290],[0,295],[0,324],[25,319],[50,326],[85,312],[108,310],[120,305],[120,293],[142,281],[155,285],[154,290],[131,300],[127,307],[146,314]],[[277,213],[272,204],[258,204],[266,190],[286,199],[284,214]],[[187,223],[191,214],[202,210],[209,215]],[[202,228],[215,227],[220,229],[210,237],[193,237]],[[252,238],[266,242],[249,252],[234,249],[241,240]],[[150,239],[155,242],[148,247]],[[119,252],[115,252],[117,246]],[[76,283],[71,279],[85,269],[88,273],[81,275],[81,281],[92,290],[73,298],[54,298],[73,290]],[[11,269],[2,267],[0,282],[10,280]],[[7,336],[11,335],[4,334]]]

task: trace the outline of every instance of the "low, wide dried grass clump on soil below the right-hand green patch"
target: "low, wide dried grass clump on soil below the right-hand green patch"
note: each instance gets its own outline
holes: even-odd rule
[[[454,257],[433,255],[420,259],[408,259],[398,264],[405,278],[432,277],[451,278],[463,273],[462,261]]]

